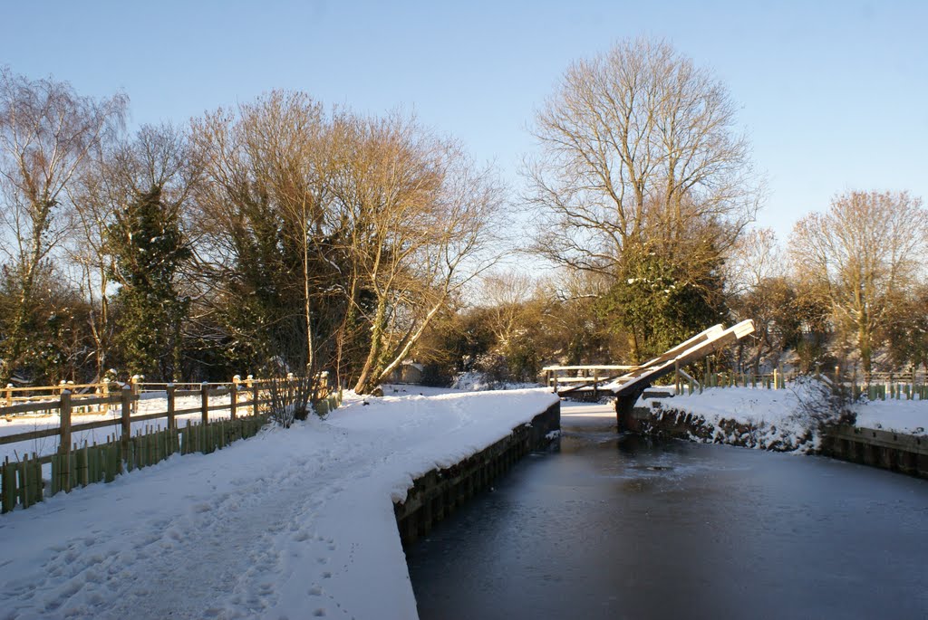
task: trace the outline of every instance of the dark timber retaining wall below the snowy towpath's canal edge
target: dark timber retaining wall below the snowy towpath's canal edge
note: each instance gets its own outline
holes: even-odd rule
[[[467,459],[417,478],[406,493],[406,500],[393,504],[403,544],[428,535],[432,525],[489,487],[523,456],[547,448],[554,437],[552,431],[560,430],[561,403],[556,402],[530,423],[516,426],[509,436]]]

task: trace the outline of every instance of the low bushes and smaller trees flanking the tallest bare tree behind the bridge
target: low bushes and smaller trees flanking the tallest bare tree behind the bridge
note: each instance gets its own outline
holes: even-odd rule
[[[785,243],[771,229],[746,230],[725,256],[718,314],[702,318],[674,298],[688,284],[672,273],[626,281],[617,305],[599,276],[497,270],[483,278],[481,305],[442,324],[427,368],[439,382],[467,371],[489,384],[535,381],[546,364],[637,363],[697,327],[752,319],[754,335],[719,367],[839,366],[868,382],[876,372],[928,373],[926,221],[906,192],[851,191],[798,221]],[[693,331],[681,333],[680,317]]]

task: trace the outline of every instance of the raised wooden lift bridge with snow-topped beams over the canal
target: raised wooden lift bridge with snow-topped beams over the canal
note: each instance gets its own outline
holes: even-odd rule
[[[621,431],[627,427],[626,418],[631,415],[638,398],[655,381],[670,373],[675,373],[677,378],[690,380],[690,375],[684,371],[688,364],[700,361],[753,333],[754,322],[750,319],[728,329],[718,324],[637,366],[547,366],[543,370],[547,375],[548,386],[561,397],[614,397],[615,414]]]

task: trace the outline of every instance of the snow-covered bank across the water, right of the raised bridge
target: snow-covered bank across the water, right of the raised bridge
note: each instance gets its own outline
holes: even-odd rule
[[[657,418],[679,414],[697,418],[701,432],[690,434],[695,441],[807,452],[818,449],[821,437],[815,418],[826,408],[813,386],[806,382],[778,390],[712,388],[702,394],[641,402]],[[924,435],[928,428],[928,402],[921,400],[864,401],[848,410],[856,414],[858,427],[907,435]]]

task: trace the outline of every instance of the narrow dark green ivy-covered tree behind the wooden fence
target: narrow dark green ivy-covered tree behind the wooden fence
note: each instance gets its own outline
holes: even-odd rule
[[[115,296],[116,341],[125,367],[148,379],[172,380],[180,372],[180,328],[189,308],[175,278],[191,252],[178,214],[161,201],[160,185],[116,213],[108,239],[113,276],[122,285]]]

